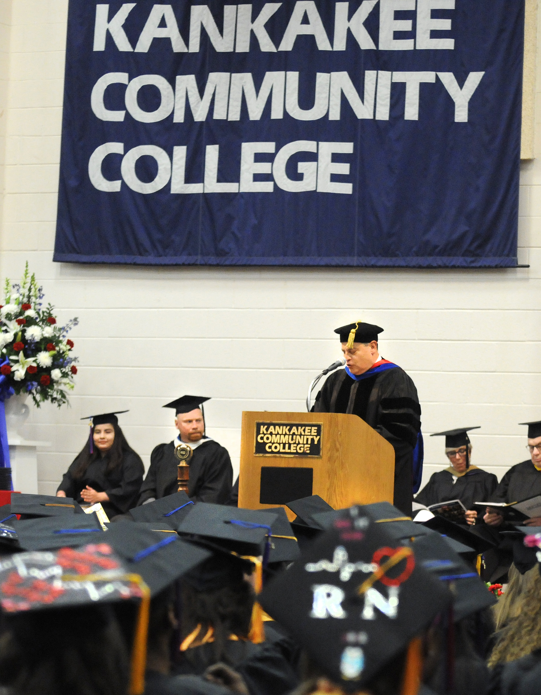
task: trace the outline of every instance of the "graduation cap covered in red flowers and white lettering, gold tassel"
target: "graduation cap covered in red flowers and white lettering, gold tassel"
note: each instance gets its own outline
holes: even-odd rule
[[[100,607],[120,602],[125,605],[128,599],[139,603],[129,692],[141,695],[144,692],[150,592],[141,576],[128,571],[108,543],[91,543],[77,549],[60,548],[54,552],[17,553],[3,557],[0,566],[2,612],[24,613],[22,619],[28,620],[29,614],[42,610]],[[31,625],[28,622],[28,627]]]

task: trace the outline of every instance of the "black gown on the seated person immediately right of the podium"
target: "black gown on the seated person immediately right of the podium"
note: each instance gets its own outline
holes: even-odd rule
[[[438,502],[460,500],[466,509],[475,509],[474,502],[490,500],[497,485],[498,479],[494,473],[481,471],[481,468],[469,468],[460,477],[447,469],[431,475],[430,480],[415,497],[415,502],[429,507],[437,505]]]

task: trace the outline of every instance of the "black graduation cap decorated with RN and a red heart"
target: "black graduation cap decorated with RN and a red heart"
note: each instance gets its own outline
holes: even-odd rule
[[[412,548],[362,507],[345,509],[260,595],[264,610],[345,692],[363,689],[406,648],[413,663],[419,632],[451,600]]]

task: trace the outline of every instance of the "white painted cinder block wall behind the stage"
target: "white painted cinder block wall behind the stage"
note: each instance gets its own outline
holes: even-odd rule
[[[238,469],[242,411],[302,411],[310,380],[339,357],[333,329],[358,318],[385,327],[381,352],[415,380],[425,435],[482,425],[474,463],[498,477],[526,458],[517,423],[541,419],[541,160],[522,164],[528,270],[53,263],[66,19],[67,0],[0,4],[0,275],[17,279],[28,259],[60,320],[80,319],[72,407],[33,408],[27,425],[52,443],[40,491],[56,490],[88,435],[79,418],[96,412],[130,409],[122,426],[148,466],[174,435],[160,406],[183,393],[213,397],[208,432]],[[443,445],[425,436],[425,482],[447,465]]]

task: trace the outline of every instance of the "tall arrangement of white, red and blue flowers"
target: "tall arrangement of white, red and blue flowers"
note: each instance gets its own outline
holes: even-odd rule
[[[67,334],[78,319],[59,326],[54,307],[43,306],[43,296],[28,263],[20,283],[6,278],[0,305],[0,398],[28,393],[37,407],[47,400],[60,407],[74,388],[77,358]]]

